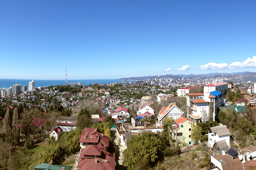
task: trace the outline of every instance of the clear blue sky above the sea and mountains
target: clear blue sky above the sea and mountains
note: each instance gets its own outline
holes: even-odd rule
[[[256,1],[1,1],[0,78],[256,72]],[[250,57],[250,59],[248,59]]]

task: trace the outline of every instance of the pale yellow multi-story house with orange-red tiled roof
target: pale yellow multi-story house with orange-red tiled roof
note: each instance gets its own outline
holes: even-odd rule
[[[179,142],[186,142],[187,145],[194,144],[190,138],[191,135],[191,123],[194,123],[191,119],[188,119],[182,115],[180,118],[175,120],[175,126],[169,127],[172,134],[172,139],[177,146]]]

